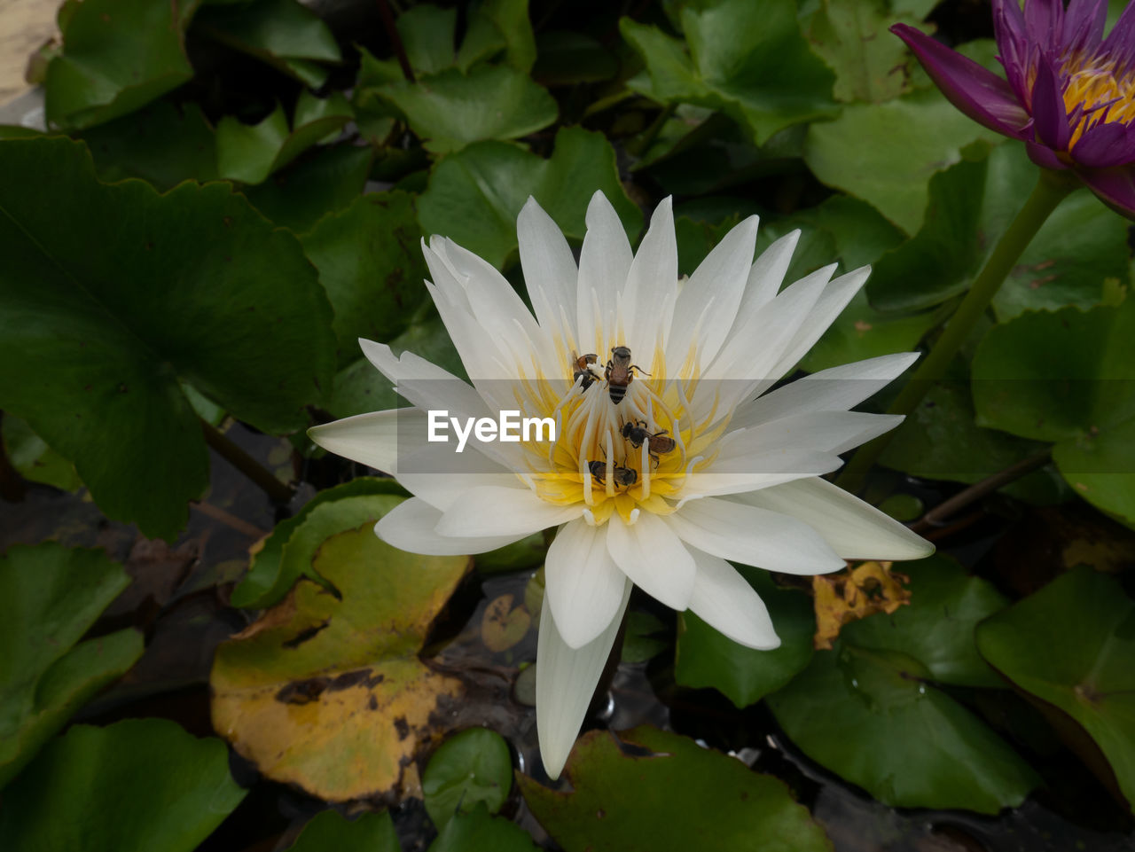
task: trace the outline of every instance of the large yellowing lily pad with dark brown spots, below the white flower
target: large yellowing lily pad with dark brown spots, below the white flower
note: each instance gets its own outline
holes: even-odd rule
[[[381,501],[388,511],[398,499]],[[314,554],[342,599],[301,580],[218,648],[211,675],[217,731],[269,778],[328,801],[417,791],[414,757],[439,733],[439,708],[462,694],[418,652],[470,559],[397,550],[372,526]]]

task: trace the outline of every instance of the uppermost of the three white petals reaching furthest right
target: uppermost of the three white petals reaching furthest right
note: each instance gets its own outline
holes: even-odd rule
[[[730,429],[748,429],[793,414],[847,411],[877,394],[917,360],[917,352],[903,352],[805,376],[740,406]]]

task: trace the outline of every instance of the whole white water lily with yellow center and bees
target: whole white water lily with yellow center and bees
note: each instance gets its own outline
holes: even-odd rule
[[[735,642],[773,649],[780,640],[767,609],[726,559],[822,574],[844,559],[915,559],[933,547],[819,479],[840,465],[838,454],[898,424],[900,417],[849,408],[915,354],[824,370],[765,394],[843,310],[868,268],[833,279],[832,264],[781,289],[799,231],[754,262],[751,217],[680,281],[669,199],[633,253],[614,209],[596,193],[578,267],[533,200],[518,233],[535,317],[477,255],[439,237],[423,245],[434,279],[427,287],[471,385],[412,353],[396,356],[362,340],[413,407],[340,420],[311,437],[394,474],[414,495],[376,526],[404,550],[478,554],[558,528],[546,558],[536,672],[540,753],[555,778],[632,584]],[[640,365],[622,398],[603,370],[619,346]],[[603,354],[580,378],[575,353]],[[424,440],[427,412],[440,410],[521,410],[553,417],[560,430],[550,447],[470,445],[487,467],[463,473],[453,465],[468,449],[454,456],[452,445]],[[628,423],[664,433],[673,447],[636,447],[624,437]],[[445,464],[452,472],[424,472]]]

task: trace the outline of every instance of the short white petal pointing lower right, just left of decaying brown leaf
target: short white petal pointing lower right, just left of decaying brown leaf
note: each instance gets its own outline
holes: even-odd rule
[[[780,636],[760,596],[724,559],[690,548],[698,566],[690,611],[746,648],[771,651]]]

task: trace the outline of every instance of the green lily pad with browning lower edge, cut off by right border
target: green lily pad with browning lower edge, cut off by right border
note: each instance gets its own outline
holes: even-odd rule
[[[1123,587],[1074,568],[982,622],[977,647],[1026,698],[1087,732],[1110,773],[1090,766],[1135,807],[1135,601]]]

